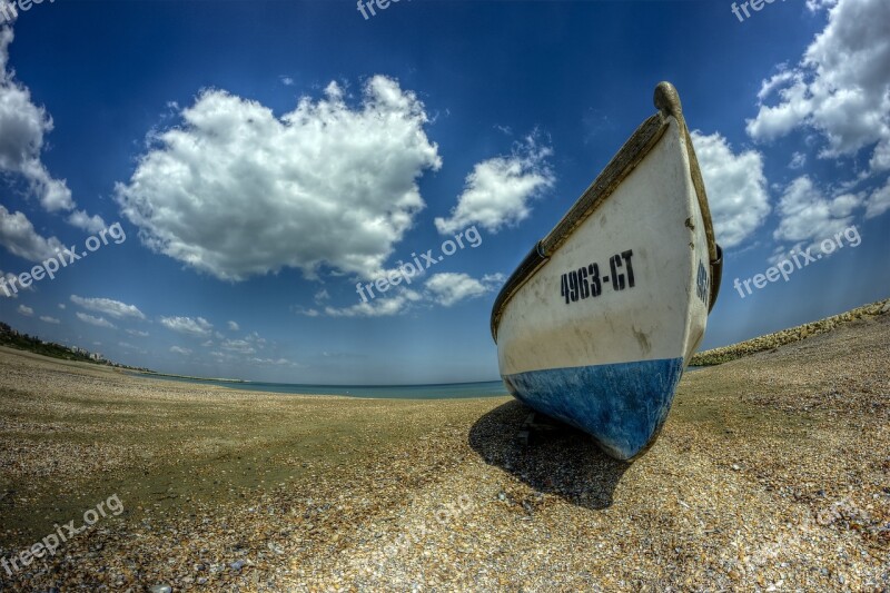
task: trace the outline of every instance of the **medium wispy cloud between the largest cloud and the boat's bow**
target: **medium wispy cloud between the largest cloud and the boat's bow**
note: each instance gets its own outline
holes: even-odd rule
[[[551,148],[538,146],[530,136],[524,144],[516,145],[510,157],[476,164],[466,177],[457,206],[448,218],[436,218],[436,228],[446,235],[478,224],[497,233],[502,227],[525,220],[532,213],[532,198],[554,182],[547,165],[551,155]]]

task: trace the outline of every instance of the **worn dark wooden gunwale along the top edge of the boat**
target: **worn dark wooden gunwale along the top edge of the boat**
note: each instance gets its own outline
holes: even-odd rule
[[[605,168],[596,176],[596,179],[587,187],[572,208],[553,227],[546,237],[537,241],[532,250],[520,263],[518,267],[511,274],[501,291],[495,298],[492,307],[491,330],[492,337],[497,343],[497,326],[502,314],[510,299],[515,295],[535,273],[546,264],[553,254],[572,236],[572,234],[602,206],[603,202],[617,189],[631,172],[643,161],[643,159],[659,144],[664,132],[670,126],[670,117],[673,117],[680,127],[690,161],[690,174],[692,185],[699,201],[699,208],[704,220],[704,233],[708,238],[708,250],[711,264],[712,278],[709,312],[716,302],[720,291],[720,276],[722,275],[722,250],[714,239],[714,228],[711,220],[711,209],[708,205],[708,195],[704,190],[699,160],[695,157],[695,149],[692,146],[692,138],[683,118],[683,109],[680,103],[680,96],[670,82],[660,82],[655,87],[654,101],[656,113],[646,118],[631,137],[624,142],[621,149],[609,161]]]

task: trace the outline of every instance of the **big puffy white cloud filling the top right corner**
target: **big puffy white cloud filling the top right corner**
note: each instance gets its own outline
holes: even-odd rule
[[[890,2],[809,0],[808,7],[831,7],[828,24],[797,67],[763,81],[748,134],[768,141],[795,128],[814,129],[827,141],[821,158],[874,146],[872,171],[890,169]],[[765,105],[773,93],[779,101]]]

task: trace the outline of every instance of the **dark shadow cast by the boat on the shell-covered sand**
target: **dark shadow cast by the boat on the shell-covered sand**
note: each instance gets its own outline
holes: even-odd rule
[[[591,510],[612,506],[612,496],[630,463],[613,459],[586,433],[547,418],[547,429],[517,439],[533,411],[507,402],[482,416],[469,429],[469,446],[487,463],[537,492]]]

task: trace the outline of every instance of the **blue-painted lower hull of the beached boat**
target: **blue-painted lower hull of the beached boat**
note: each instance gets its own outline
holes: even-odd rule
[[[504,376],[526,405],[590,433],[617,459],[643,453],[671,409],[683,358],[532,370]]]

